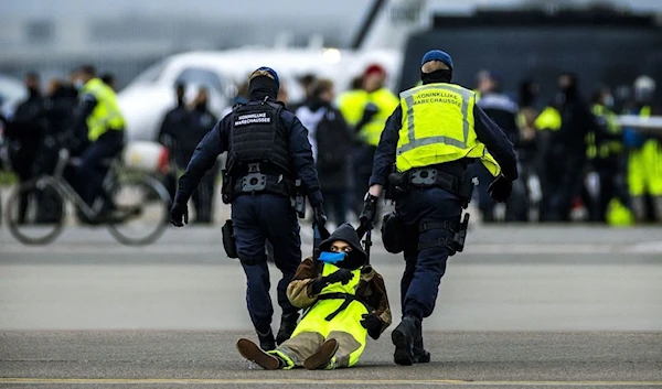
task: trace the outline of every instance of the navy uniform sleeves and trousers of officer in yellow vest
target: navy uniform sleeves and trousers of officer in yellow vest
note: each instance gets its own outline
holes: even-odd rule
[[[386,121],[375,153],[373,173],[370,179],[371,185],[385,185],[388,174],[392,172],[402,116],[402,108],[398,106]],[[511,181],[515,180],[517,169],[512,143],[482,109],[474,107],[473,117],[478,140],[485,144],[499,162],[502,174]],[[445,163],[444,170],[461,179],[467,163],[467,161]],[[407,227],[407,234],[410,235],[406,239],[407,245],[404,252],[406,268],[401,283],[403,315],[423,320],[433,313],[441,277],[446,271],[449,250],[444,245],[419,250],[418,245],[452,237],[452,233],[442,228],[421,230],[424,229],[421,227],[426,223],[459,221],[461,206],[460,197],[438,187],[414,187],[396,199],[396,210]]]

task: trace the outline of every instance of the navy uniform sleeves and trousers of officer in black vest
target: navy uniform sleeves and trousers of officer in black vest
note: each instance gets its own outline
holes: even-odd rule
[[[248,105],[259,105],[263,99],[254,96]],[[235,112],[228,114],[200,142],[186,172],[180,177],[175,202],[189,199],[205,172],[216,162],[222,152],[228,151]],[[308,142],[308,130],[291,112],[280,110],[280,126],[288,134],[287,149],[291,172],[300,179],[308,192],[312,206],[322,203],[312,151]],[[237,253],[247,278],[246,301],[253,324],[258,335],[271,333],[274,309],[269,298],[269,271],[265,253],[268,240],[274,247],[276,267],[282,272],[278,282],[278,304],[284,316],[297,314],[287,299],[286,289],[301,262],[299,221],[285,195],[255,193],[238,195],[232,202],[232,220],[236,237]]]

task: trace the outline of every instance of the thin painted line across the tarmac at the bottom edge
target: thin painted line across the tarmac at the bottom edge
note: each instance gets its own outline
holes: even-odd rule
[[[481,386],[481,387],[656,387],[662,381],[471,381],[462,379],[191,379],[191,378],[0,378],[0,383],[23,385],[361,385],[361,386]]]

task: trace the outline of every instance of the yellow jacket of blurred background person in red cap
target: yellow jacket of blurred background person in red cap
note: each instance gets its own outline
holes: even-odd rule
[[[350,90],[341,95],[339,99],[340,111],[351,126],[359,123],[363,117],[363,110],[369,104],[377,106],[378,111],[367,125],[363,126],[359,137],[370,145],[377,145],[386,120],[397,107],[397,97],[391,90],[381,88],[373,93],[363,89]]]

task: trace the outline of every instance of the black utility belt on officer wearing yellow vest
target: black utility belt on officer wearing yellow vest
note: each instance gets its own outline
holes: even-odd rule
[[[388,175],[386,198],[397,199],[401,194],[412,187],[439,187],[462,198],[462,207],[467,208],[473,194],[476,179],[458,177],[438,168],[417,168],[404,173],[394,172]]]

